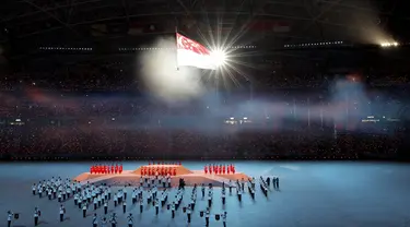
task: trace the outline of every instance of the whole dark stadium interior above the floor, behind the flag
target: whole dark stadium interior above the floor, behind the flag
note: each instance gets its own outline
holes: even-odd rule
[[[407,14],[399,0],[5,0],[0,157],[408,158]],[[223,69],[173,77],[176,32],[225,52]]]

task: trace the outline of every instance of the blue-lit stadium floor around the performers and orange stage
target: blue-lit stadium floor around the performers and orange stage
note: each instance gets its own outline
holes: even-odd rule
[[[124,169],[136,169],[143,164],[145,162],[124,163]],[[189,169],[202,169],[204,164],[208,163],[183,163]],[[251,177],[279,176],[281,190],[272,189],[268,198],[258,190],[255,201],[246,193],[242,203],[237,201],[235,194],[229,195],[225,206],[227,226],[410,226],[410,165],[351,162],[236,162],[234,164],[237,171]],[[92,216],[83,218],[81,211],[72,201],[65,203],[67,219],[59,223],[58,202],[31,194],[34,182],[52,176],[73,178],[87,171],[91,163],[1,164],[0,214],[3,218],[0,226],[7,226],[9,210],[20,213],[20,218],[13,226],[33,226],[35,206],[42,211],[39,226],[92,226]],[[220,194],[220,189],[216,189],[211,213],[223,211]],[[187,198],[184,196],[184,200],[188,200]],[[175,219],[172,219],[171,212],[167,210],[161,211],[160,215],[155,216],[154,208],[144,207],[141,215],[138,206],[130,206],[130,201],[128,204],[127,214],[122,214],[120,207],[114,211],[118,215],[117,226],[126,226],[126,215],[129,212],[133,213],[134,226],[188,226],[186,214],[180,210]],[[199,217],[198,211],[204,206],[206,201],[201,201],[198,194],[196,212],[189,226],[203,226],[204,219]],[[102,217],[103,208],[98,208],[96,213]],[[222,222],[216,222],[214,216],[210,219],[210,226],[222,226]]]

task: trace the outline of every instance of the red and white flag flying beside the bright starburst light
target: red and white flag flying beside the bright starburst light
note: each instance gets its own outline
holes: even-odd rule
[[[178,67],[196,67],[214,70],[216,62],[204,46],[180,34],[176,34]]]

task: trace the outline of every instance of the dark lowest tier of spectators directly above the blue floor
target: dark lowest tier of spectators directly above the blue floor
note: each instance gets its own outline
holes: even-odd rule
[[[47,127],[1,129],[3,158],[358,158],[395,156],[400,139],[389,135],[314,136],[308,132],[237,132],[210,135],[186,130],[83,130]]]

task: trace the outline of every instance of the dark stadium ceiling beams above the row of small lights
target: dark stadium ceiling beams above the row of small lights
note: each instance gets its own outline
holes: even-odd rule
[[[186,34],[251,27],[259,39],[288,43],[367,41],[405,31],[406,13],[400,0],[7,0],[0,40],[137,37],[177,26]]]

